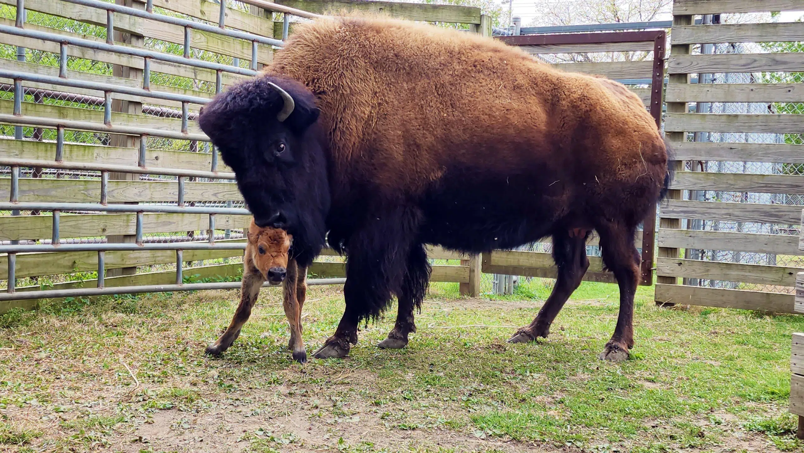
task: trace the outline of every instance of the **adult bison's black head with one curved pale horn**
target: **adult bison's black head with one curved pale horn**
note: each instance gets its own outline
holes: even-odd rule
[[[326,142],[317,121],[313,94],[275,76],[232,86],[199,115],[201,129],[235,171],[255,223],[291,233],[293,257],[304,266],[324,244],[330,208]]]

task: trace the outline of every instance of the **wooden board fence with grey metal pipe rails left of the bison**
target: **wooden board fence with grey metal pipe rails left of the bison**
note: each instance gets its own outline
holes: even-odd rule
[[[318,14],[259,0],[24,5],[0,0],[0,312],[34,306],[23,299],[239,286],[250,217],[199,109]],[[479,8],[414,19],[490,35]],[[310,273],[336,279],[311,284],[343,282],[343,258],[329,254]],[[438,282],[469,276],[456,260],[433,268]]]

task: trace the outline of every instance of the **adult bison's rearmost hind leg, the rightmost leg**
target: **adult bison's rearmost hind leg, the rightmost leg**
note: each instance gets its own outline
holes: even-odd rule
[[[639,281],[640,257],[634,245],[634,227],[616,222],[595,226],[601,236],[603,264],[614,273],[620,286],[620,313],[614,334],[605,344],[602,360],[622,361],[634,347],[634,294]]]

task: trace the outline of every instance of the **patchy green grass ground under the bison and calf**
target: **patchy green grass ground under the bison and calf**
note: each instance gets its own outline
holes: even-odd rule
[[[632,357],[611,364],[597,354],[617,288],[585,283],[548,340],[505,343],[550,289],[535,278],[510,296],[458,299],[457,285],[434,284],[408,348],[374,346],[392,307],[346,360],[303,366],[285,350],[278,290],[263,291],[219,359],[203,347],[228,324],[236,291],[15,311],[0,319],[0,404],[26,414],[15,420],[30,431],[0,432],[35,451],[121,449],[138,436],[143,451],[194,451],[180,440],[201,437],[219,451],[804,451],[786,410],[790,334],[804,319],[658,308],[641,287]],[[311,354],[334,332],[343,294],[311,287],[308,300]]]

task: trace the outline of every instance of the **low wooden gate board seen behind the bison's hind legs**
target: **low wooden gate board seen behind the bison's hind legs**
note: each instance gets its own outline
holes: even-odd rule
[[[556,278],[557,268],[550,253],[494,250],[482,254],[484,274],[522,275],[523,277]],[[589,270],[584,275],[587,282],[614,283],[613,274],[603,272],[601,257],[589,257]]]

